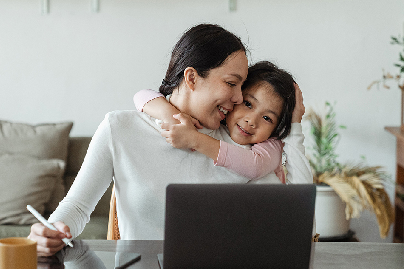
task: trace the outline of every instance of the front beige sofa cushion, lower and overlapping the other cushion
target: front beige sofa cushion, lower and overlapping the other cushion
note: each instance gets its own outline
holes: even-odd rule
[[[65,168],[60,159],[37,159],[25,155],[0,156],[0,224],[37,222],[27,211],[32,205],[43,214],[45,204]]]

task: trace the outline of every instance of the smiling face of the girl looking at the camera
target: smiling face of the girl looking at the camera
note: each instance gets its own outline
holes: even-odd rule
[[[264,142],[278,126],[283,100],[266,82],[244,90],[243,98],[226,116],[231,139],[240,145]]]

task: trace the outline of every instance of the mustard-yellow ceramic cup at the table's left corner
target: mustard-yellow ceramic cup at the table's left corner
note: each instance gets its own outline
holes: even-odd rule
[[[26,237],[0,239],[0,269],[36,269],[36,242]]]

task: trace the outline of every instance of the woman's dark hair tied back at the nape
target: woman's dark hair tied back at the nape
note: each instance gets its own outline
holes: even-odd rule
[[[164,96],[173,93],[184,78],[184,70],[193,67],[205,78],[233,52],[246,48],[240,38],[216,24],[199,24],[186,31],[171,53],[166,76],[159,88]]]

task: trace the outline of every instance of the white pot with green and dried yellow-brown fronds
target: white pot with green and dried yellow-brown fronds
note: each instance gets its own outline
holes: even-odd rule
[[[305,119],[310,122],[314,140],[309,162],[318,185],[317,232],[321,237],[344,236],[349,231],[349,220],[367,209],[376,215],[380,237],[385,238],[394,222],[394,211],[383,186],[388,175],[379,166],[337,162],[338,129],[345,127],[337,126],[330,103],[325,103],[322,114],[309,110]]]

